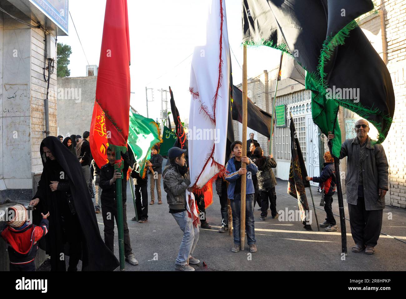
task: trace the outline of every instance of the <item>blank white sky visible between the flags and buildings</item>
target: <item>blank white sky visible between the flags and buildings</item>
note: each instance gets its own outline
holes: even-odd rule
[[[149,117],[154,120],[160,118],[159,90],[169,90],[171,86],[181,119],[189,118],[191,54],[195,46],[205,44],[206,20],[211,1],[127,0],[131,92],[134,92],[130,104],[138,113],[147,116],[145,87],[152,88],[153,94],[148,89],[148,99],[153,100],[148,103]],[[225,3],[233,82],[238,85],[242,81],[242,6],[241,0],[225,0]],[[71,77],[86,76],[88,62],[90,65],[99,65],[105,7],[105,0],[69,0],[69,11],[78,35],[69,17],[69,36],[59,36],[58,42],[71,46],[68,66]],[[265,46],[248,48],[248,77],[258,76],[263,70],[272,70],[279,63],[279,58],[279,51]],[[170,111],[169,93],[167,96]]]

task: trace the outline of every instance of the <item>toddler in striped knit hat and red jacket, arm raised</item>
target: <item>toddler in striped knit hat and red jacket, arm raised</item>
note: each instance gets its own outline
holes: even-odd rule
[[[6,241],[9,252],[10,271],[35,271],[37,242],[48,233],[48,212],[42,214],[39,225],[28,221],[28,212],[24,205],[13,205],[7,211],[9,221],[1,236]]]

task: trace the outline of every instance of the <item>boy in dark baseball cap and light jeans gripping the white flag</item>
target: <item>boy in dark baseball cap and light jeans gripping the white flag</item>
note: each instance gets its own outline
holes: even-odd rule
[[[170,164],[164,168],[164,190],[169,205],[169,213],[175,218],[176,223],[183,231],[183,238],[179,248],[179,254],[175,262],[177,271],[194,271],[190,266],[199,264],[198,259],[192,254],[199,240],[199,226],[193,223],[193,213],[188,212],[186,189],[190,185],[188,166],[185,159],[186,150],[173,147],[168,151]],[[190,189],[188,189],[191,191]],[[190,207],[192,209],[193,207]]]

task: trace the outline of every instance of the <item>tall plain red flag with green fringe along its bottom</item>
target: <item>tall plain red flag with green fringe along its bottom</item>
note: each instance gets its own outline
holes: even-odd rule
[[[127,0],[106,2],[102,48],[97,71],[96,102],[106,115],[109,147],[114,151],[127,151],[130,111],[130,37]],[[95,119],[92,119],[92,123],[94,121]]]

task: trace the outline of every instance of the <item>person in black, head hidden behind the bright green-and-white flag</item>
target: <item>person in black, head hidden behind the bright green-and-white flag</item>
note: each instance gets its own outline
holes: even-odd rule
[[[148,166],[145,166],[145,177],[140,177],[140,173],[136,172],[138,168],[138,163],[135,162],[134,166],[132,167],[131,177],[133,178],[134,187],[135,187],[135,205],[137,207],[137,215],[139,217],[139,223],[145,223],[148,221],[148,174],[147,169]],[[131,183],[131,182],[130,182]],[[132,218],[131,220],[135,221],[136,218]]]

